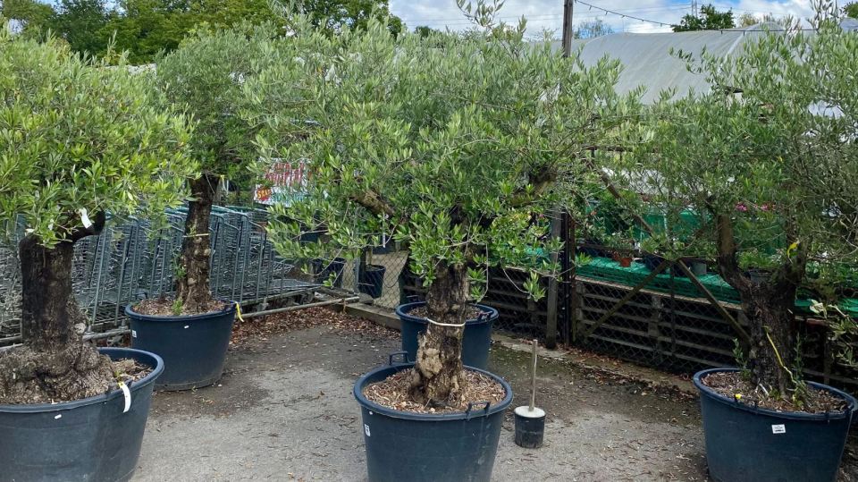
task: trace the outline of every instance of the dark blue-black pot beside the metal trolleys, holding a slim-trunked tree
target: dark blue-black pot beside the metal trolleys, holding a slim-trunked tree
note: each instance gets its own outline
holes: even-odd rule
[[[189,390],[214,384],[223,374],[223,360],[230,346],[235,303],[223,311],[180,317],[135,313],[131,319],[131,347],[152,351],[164,359],[158,390]]]

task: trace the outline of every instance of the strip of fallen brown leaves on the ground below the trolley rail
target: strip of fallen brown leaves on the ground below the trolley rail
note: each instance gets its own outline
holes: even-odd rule
[[[318,326],[330,326],[342,333],[368,334],[391,340],[400,336],[395,330],[363,318],[344,315],[325,307],[315,307],[276,313],[267,317],[248,318],[243,322],[237,319],[235,326],[232,327],[231,344],[240,344],[253,339],[265,340],[276,334]]]

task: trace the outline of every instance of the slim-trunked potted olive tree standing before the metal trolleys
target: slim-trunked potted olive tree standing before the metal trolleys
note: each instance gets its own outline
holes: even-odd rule
[[[209,217],[221,180],[241,176],[248,182],[257,164],[254,127],[240,115],[242,89],[264,63],[275,60],[269,30],[202,31],[156,64],[157,89],[196,123],[189,146],[199,163],[188,180],[184,238],[173,263],[175,296],[143,300],[125,310],[133,346],[164,359],[160,389],[212,385],[223,373],[237,305],[211,294]]]

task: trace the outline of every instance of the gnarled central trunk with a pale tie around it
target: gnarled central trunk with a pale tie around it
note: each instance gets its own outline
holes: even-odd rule
[[[469,295],[465,266],[439,266],[426,293],[428,317],[444,325],[464,323]],[[462,326],[429,323],[417,347],[412,397],[417,402],[442,406],[464,388]]]

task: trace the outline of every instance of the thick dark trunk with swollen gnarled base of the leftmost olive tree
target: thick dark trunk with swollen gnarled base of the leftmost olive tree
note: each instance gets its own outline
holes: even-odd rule
[[[104,216],[97,219],[100,230]],[[19,243],[24,346],[0,356],[0,403],[78,400],[104,393],[113,379],[110,359],[81,341],[86,323],[71,291],[74,243],[91,233],[53,248],[33,235]]]

